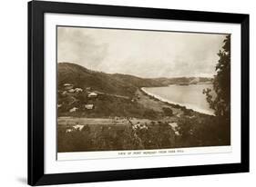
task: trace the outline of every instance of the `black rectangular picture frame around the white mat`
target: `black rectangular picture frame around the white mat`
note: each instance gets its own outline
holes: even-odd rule
[[[44,14],[108,15],[241,24],[241,162],[106,172],[44,172]],[[177,177],[249,172],[249,15],[115,5],[31,1],[28,3],[28,184]]]

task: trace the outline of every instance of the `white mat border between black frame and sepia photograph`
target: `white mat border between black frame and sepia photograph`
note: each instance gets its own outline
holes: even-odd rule
[[[189,148],[191,149],[188,152],[190,154],[172,156],[98,158],[96,160],[79,160],[81,155],[77,154],[72,157],[77,160],[56,161],[56,25],[230,33],[231,147]],[[227,151],[229,152],[227,153]],[[233,162],[241,162],[241,25],[97,15],[45,14],[45,173],[92,172]]]

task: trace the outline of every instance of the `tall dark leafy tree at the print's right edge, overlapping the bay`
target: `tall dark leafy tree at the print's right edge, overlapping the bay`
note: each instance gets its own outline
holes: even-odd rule
[[[216,96],[213,96],[210,88],[204,89],[203,94],[206,94],[210,108],[214,110],[216,116],[227,119],[230,116],[230,34],[226,36],[223,43],[218,53],[220,59],[213,78],[213,90]]]

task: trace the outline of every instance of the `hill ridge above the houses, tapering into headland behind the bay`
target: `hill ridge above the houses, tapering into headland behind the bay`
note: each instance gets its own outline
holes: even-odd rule
[[[209,82],[210,78],[178,77],[178,78],[140,78],[129,74],[106,74],[89,70],[78,64],[57,64],[58,89],[64,84],[87,88],[108,94],[132,96],[138,87],[168,86],[169,84],[189,84]]]

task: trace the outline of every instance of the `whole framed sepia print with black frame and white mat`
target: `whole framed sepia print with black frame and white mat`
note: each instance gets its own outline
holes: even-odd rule
[[[249,15],[28,3],[28,183],[249,172]]]

